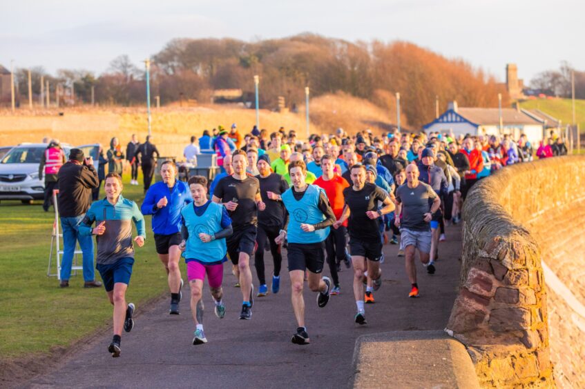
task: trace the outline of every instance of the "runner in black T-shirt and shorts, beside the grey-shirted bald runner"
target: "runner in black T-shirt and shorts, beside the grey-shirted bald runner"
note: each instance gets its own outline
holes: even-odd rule
[[[354,297],[357,306],[355,321],[358,324],[365,324],[363,284],[370,275],[374,290],[382,286],[379,261],[382,257],[383,244],[380,238],[378,217],[392,212],[394,203],[381,188],[373,183],[365,183],[365,166],[356,164],[349,171],[352,174],[353,186],[343,190],[345,208],[335,226],[341,226],[349,217],[347,229],[349,230],[349,250],[352,252],[354,263]],[[379,210],[378,201],[384,204]]]

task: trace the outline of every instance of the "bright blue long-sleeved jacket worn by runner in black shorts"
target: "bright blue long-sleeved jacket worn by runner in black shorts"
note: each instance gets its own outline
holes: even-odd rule
[[[156,208],[160,199],[166,196],[166,207]],[[160,181],[148,188],[140,210],[143,215],[153,215],[153,232],[157,235],[172,235],[181,232],[181,210],[192,203],[189,187],[183,181],[175,181],[173,191]]]

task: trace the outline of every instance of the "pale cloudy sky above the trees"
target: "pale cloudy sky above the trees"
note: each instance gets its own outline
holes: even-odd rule
[[[256,41],[313,32],[347,41],[410,41],[528,83],[568,61],[585,70],[582,0],[0,0],[0,64],[100,74],[137,65],[173,38]]]

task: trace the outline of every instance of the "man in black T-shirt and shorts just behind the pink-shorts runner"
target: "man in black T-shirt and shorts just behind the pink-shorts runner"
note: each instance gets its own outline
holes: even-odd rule
[[[258,210],[266,204],[260,197],[260,183],[256,177],[246,174],[246,152],[236,150],[231,157],[233,174],[224,177],[215,187],[213,201],[223,203],[229,211],[233,224],[233,235],[227,239],[227,253],[231,263],[237,265],[236,278],[242,289],[242,312],[240,319],[252,317],[253,290],[250,257],[254,251],[258,230]]]

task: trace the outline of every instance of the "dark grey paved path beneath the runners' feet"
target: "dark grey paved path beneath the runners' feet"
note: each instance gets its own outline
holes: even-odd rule
[[[121,357],[112,358],[107,352],[111,335],[104,335],[28,386],[345,388],[352,383],[352,356],[358,336],[445,327],[456,297],[461,248],[460,229],[448,228],[447,234],[448,241],[441,243],[437,273],[427,275],[419,265],[419,299],[407,298],[410,284],[403,258],[396,257],[398,248],[385,246],[384,282],[376,292],[376,303],[366,306],[366,326],[354,323],[351,269],[343,267],[341,295],[332,296],[325,308],[318,308],[316,294],[305,290],[311,344],[296,346],[290,341],[296,322],[287,273],[282,273],[280,293],[256,299],[252,319],[244,321],[238,319],[240,290],[233,288],[231,269],[225,266],[224,319],[213,315],[211,296],[205,295],[207,345],[191,344],[194,326],[187,300],[182,303],[180,316],[170,316],[165,299],[145,313],[144,307],[137,307],[143,314],[137,316],[133,331],[123,335]],[[271,269],[267,270],[270,274]]]

